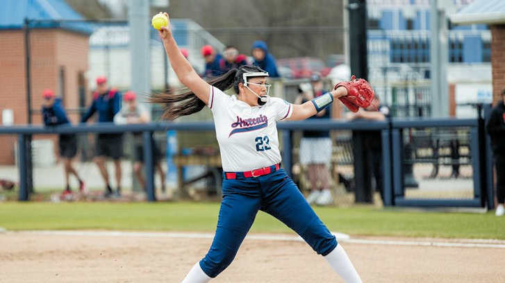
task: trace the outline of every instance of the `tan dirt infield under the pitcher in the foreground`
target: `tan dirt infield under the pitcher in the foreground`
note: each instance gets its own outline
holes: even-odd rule
[[[0,282],[181,282],[211,241],[4,233],[0,234]],[[403,246],[400,242],[342,246],[363,282],[502,282],[505,275],[505,248]],[[246,239],[235,261],[212,282],[343,281],[306,243]]]

